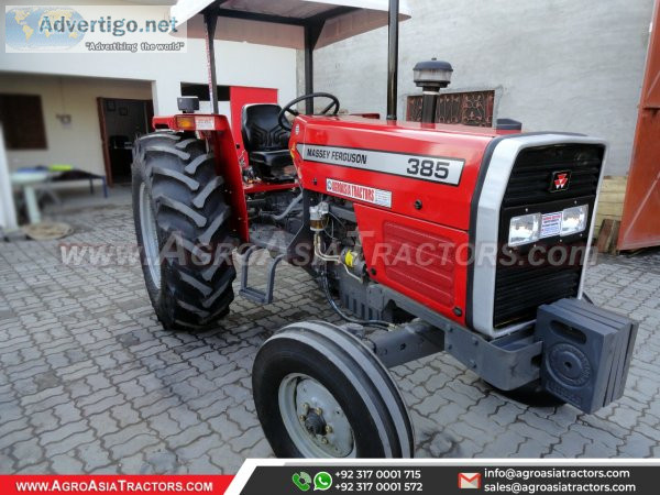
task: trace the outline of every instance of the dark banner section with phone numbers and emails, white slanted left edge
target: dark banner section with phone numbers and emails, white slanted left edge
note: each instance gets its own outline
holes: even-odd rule
[[[658,490],[660,462],[612,460],[248,460],[231,495],[634,493]]]

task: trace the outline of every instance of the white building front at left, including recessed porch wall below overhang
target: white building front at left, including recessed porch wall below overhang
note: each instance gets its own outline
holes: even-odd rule
[[[122,3],[127,2],[114,0],[109,4]],[[0,18],[0,32],[3,32],[3,8]],[[218,85],[276,88],[280,102],[296,97],[295,50],[216,42],[216,63]],[[67,76],[64,87],[67,110],[73,114],[70,129],[63,129],[55,118],[55,113],[61,113],[58,78],[44,75]],[[202,40],[189,40],[185,54],[8,54],[1,51],[0,91],[42,95],[48,141],[47,152],[10,152],[10,166],[64,162],[103,173],[96,97],[153,97],[156,114],[177,113],[180,82],[207,82]]]

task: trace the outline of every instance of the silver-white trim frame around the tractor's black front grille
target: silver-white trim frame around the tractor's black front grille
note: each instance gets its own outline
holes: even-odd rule
[[[594,231],[597,200],[607,158],[607,142],[598,138],[548,133],[520,135],[502,140],[497,143],[493,151],[482,194],[479,199],[474,238],[474,279],[472,284],[472,324],[476,331],[491,338],[498,338],[513,333],[531,323],[531,321],[527,321],[497,330],[493,328],[499,209],[502,200],[504,199],[506,186],[509,182],[512,168],[520,151],[527,147],[547,146],[552,144],[602,144],[605,146],[605,155],[603,157],[601,177],[598,179],[598,193],[596,194],[596,207],[594,207],[592,224],[588,230],[590,238],[586,245],[586,252],[588,253],[591,250],[591,237]],[[586,264],[585,260],[580,279],[579,297],[582,297]]]

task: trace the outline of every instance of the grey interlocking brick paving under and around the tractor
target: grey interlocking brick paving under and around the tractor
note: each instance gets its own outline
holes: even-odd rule
[[[67,242],[133,242],[130,209],[66,218]],[[283,266],[277,301],[237,299],[223,328],[164,331],[139,266],[63,265],[57,242],[0,243],[0,472],[235,473],[272,452],[250,369],[286,322],[336,321],[309,277]],[[659,457],[660,255],[602,257],[587,288],[641,321],[626,396],[596,415],[529,408],[452,358],[395,370],[418,457]]]

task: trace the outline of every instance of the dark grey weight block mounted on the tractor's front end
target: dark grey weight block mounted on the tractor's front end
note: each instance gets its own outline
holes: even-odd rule
[[[543,343],[541,385],[594,413],[624,394],[637,323],[582,299],[539,307],[535,337]]]

